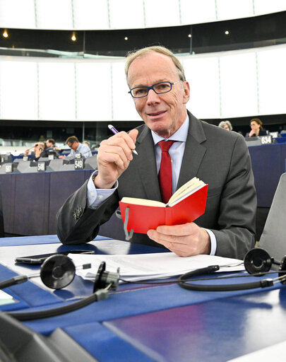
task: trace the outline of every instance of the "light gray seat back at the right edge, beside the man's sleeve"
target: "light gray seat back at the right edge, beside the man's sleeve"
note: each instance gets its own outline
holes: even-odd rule
[[[271,257],[281,261],[286,255],[286,173],[280,176],[278,187],[275,191],[273,202],[270,206],[268,217],[258,247],[267,250]],[[277,269],[277,268],[273,268]]]

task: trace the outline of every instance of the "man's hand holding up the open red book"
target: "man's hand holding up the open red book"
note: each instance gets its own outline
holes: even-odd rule
[[[148,230],[147,235],[156,243],[165,245],[179,257],[210,254],[210,236],[196,223],[162,225],[158,226],[156,230]]]

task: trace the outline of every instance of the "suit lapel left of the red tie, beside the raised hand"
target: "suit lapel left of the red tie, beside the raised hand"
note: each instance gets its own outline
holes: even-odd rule
[[[138,161],[136,162],[136,168],[141,176],[146,199],[162,201],[157,178],[154,142],[147,126],[138,135],[136,151],[138,152],[138,156],[135,156]]]

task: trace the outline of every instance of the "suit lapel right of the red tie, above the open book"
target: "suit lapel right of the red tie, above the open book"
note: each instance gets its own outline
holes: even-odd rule
[[[206,140],[206,137],[201,121],[191,115],[189,111],[188,115],[189,132],[186,139],[184,157],[181,162],[177,189],[198,174],[198,170],[206,151],[205,146],[203,146],[203,142]]]

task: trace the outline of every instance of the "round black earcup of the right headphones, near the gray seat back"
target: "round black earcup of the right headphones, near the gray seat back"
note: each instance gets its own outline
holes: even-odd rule
[[[268,252],[261,247],[254,247],[244,257],[244,267],[249,274],[267,273],[272,265]]]

